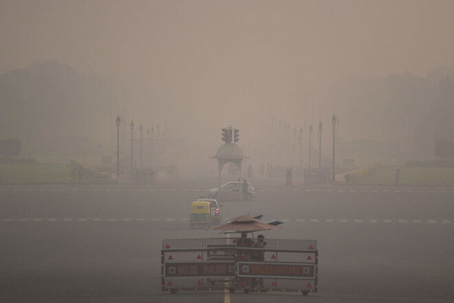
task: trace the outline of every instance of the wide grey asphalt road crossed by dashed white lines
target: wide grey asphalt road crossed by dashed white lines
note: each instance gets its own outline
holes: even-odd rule
[[[272,180],[274,181],[274,180]],[[222,202],[285,224],[267,238],[319,244],[319,292],[160,291],[160,240],[208,238],[189,203],[212,180],[152,186],[0,186],[1,302],[454,302],[454,189],[253,180],[257,198]]]

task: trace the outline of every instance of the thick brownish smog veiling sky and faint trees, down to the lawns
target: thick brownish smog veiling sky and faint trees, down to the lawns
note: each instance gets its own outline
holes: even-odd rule
[[[96,164],[117,114],[123,157],[132,119],[184,139],[162,162],[213,173],[230,124],[255,165],[291,165],[295,128],[307,165],[319,121],[329,163],[332,114],[340,158],[364,164],[454,139],[453,1],[2,0],[0,28],[0,138],[23,157]],[[358,140],[385,151],[343,149]]]

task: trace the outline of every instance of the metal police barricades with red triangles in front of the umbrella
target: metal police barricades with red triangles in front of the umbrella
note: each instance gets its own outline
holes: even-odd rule
[[[162,240],[162,291],[317,291],[316,240],[266,239],[264,248],[239,247],[238,240]],[[257,253],[263,260],[254,260]]]

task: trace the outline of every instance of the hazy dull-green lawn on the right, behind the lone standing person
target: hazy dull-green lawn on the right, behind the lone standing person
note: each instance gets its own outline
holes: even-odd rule
[[[454,168],[451,167],[377,167],[360,185],[396,185],[396,171],[400,169],[399,185],[454,186]]]

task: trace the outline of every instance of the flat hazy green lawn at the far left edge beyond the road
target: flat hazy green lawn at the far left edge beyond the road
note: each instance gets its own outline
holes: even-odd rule
[[[71,166],[59,163],[0,165],[0,184],[71,182]]]

